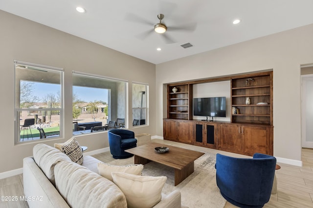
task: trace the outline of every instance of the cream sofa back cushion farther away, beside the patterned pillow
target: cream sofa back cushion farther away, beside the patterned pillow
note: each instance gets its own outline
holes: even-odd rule
[[[45,176],[54,182],[54,166],[63,160],[70,161],[69,157],[61,151],[45,144],[37,144],[33,148],[33,155],[36,164],[45,173]]]

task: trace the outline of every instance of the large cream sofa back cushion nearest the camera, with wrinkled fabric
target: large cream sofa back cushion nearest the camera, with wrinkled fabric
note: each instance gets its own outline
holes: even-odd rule
[[[127,208],[123,192],[112,181],[70,161],[54,168],[55,185],[72,208]]]

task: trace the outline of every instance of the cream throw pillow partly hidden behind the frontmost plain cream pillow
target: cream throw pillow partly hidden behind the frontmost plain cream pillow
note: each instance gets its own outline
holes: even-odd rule
[[[126,166],[116,166],[110,165],[106,163],[98,163],[98,171],[102,177],[113,181],[112,172],[126,172],[133,175],[141,175],[143,169],[143,165],[141,164],[134,164],[134,165],[126,165]]]

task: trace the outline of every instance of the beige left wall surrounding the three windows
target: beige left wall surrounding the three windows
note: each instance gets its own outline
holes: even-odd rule
[[[0,10],[0,95],[1,145],[0,173],[22,168],[22,158],[32,155],[35,143],[14,145],[14,63],[13,60],[64,68],[65,76],[65,138],[49,140],[53,146],[71,137],[72,131],[72,71],[85,72],[128,80],[129,127],[135,133],[156,134],[156,122],[132,129],[132,82],[149,84],[155,94],[155,65],[82,38],[46,27]],[[150,96],[150,117],[156,117],[155,96]],[[107,133],[78,136],[88,151],[108,147]],[[42,141],[40,141],[42,142]]]

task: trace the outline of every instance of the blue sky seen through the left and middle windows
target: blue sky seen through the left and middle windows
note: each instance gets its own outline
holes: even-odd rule
[[[49,84],[42,82],[33,82],[33,93],[36,94],[40,102],[45,95],[55,94],[60,91],[60,85],[58,84]],[[95,100],[104,101],[108,103],[108,90],[99,89],[99,88],[90,88],[90,87],[73,87],[73,93],[77,95],[80,100],[85,102],[93,102]]]

